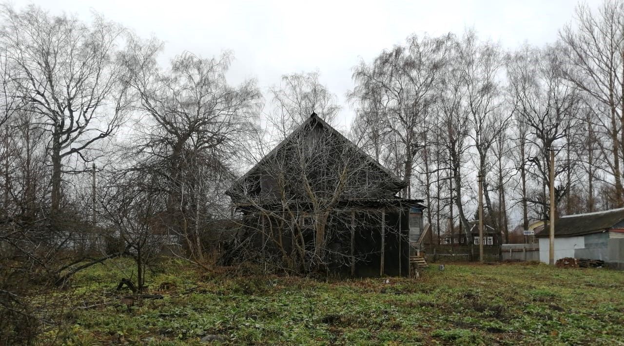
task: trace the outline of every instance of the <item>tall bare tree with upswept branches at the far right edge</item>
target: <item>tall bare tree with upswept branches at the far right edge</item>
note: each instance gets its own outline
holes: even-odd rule
[[[608,136],[603,150],[608,174],[613,177],[615,204],[624,206],[624,3],[607,0],[597,13],[579,4],[577,23],[563,27],[560,38],[567,47],[565,79],[602,105],[605,117],[598,126]],[[602,109],[601,109],[602,108]],[[602,142],[598,142],[602,143]]]

